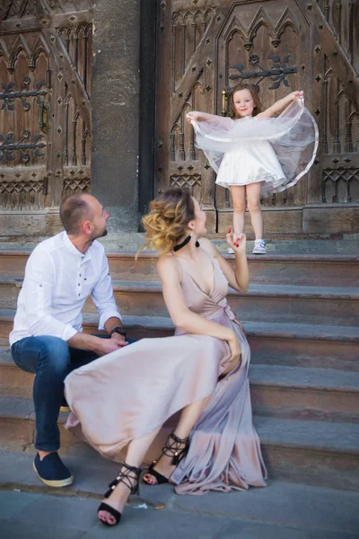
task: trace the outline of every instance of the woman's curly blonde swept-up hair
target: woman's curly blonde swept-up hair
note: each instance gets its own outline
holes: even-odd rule
[[[187,234],[187,225],[195,217],[195,205],[187,189],[164,191],[151,202],[150,212],[142,219],[146,232],[144,247],[170,252]]]

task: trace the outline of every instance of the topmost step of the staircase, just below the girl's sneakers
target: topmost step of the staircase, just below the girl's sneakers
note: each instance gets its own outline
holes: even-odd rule
[[[22,278],[30,250],[0,250],[0,276]],[[142,252],[108,252],[109,270],[117,280],[159,280],[156,256]],[[233,257],[223,253],[224,258]],[[250,281],[258,284],[356,287],[359,257],[353,254],[248,254]],[[136,277],[134,277],[136,276]]]

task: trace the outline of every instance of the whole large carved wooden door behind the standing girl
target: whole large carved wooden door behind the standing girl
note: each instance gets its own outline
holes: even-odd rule
[[[293,90],[303,90],[320,128],[320,151],[311,172],[294,188],[262,201],[267,233],[321,231],[316,222],[323,211],[333,210],[336,221],[349,207],[357,208],[358,4],[354,0],[159,4],[156,190],[190,187],[206,209],[209,230],[226,230],[232,221],[230,191],[215,186],[215,174],[194,146],[185,116],[189,110],[226,114],[229,88],[250,82],[258,85],[265,108]],[[353,228],[353,222],[348,227]],[[334,224],[328,232],[337,230]]]

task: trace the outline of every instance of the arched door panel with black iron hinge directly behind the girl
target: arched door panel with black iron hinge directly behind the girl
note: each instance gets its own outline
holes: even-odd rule
[[[277,1],[235,3],[218,37],[217,103],[223,88],[256,84],[264,109],[293,90],[304,90],[311,108],[308,22],[295,3]],[[222,108],[222,107],[221,107]],[[217,106],[218,109],[218,106]],[[218,111],[217,111],[218,113]],[[230,193],[216,187],[216,208],[231,205]],[[262,200],[268,207],[301,206],[306,200],[306,181],[291,190]]]

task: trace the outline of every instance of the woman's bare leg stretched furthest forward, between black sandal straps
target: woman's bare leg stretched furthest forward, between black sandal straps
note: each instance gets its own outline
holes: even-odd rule
[[[147,434],[142,438],[137,438],[129,443],[126,455],[126,464],[130,466],[136,466],[138,468],[144,462],[144,455],[147,453],[149,447],[153,443],[154,438],[157,436],[160,429],[156,429],[151,434]],[[125,468],[124,468],[125,471]],[[120,470],[121,472],[121,470]],[[135,477],[134,473],[130,474],[130,478]],[[104,498],[102,501],[107,503],[112,508],[117,509],[122,513],[125,508],[127,499],[130,495],[130,490],[127,486],[120,482],[116,489],[113,490],[109,498]],[[115,524],[115,518],[108,511],[99,511],[99,518],[102,521],[108,522],[110,525]]]

